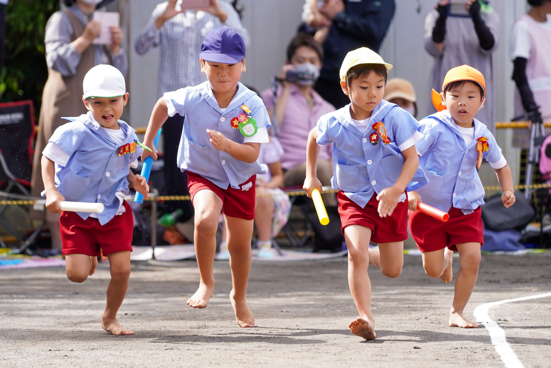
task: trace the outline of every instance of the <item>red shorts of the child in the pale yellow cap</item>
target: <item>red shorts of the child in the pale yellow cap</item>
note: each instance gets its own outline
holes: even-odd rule
[[[361,208],[352,199],[345,196],[343,191],[337,193],[339,201],[339,215],[341,215],[341,231],[344,235],[344,228],[348,225],[362,225],[370,228],[371,241],[374,243],[390,243],[393,241],[404,241],[408,239],[408,198],[406,201],[398,202],[392,215],[381,218],[377,208],[377,193],[369,200],[364,208]]]

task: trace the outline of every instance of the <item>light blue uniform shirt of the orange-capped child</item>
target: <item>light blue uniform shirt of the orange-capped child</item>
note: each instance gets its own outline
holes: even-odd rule
[[[484,188],[476,169],[477,139],[488,138],[488,151],[482,153],[494,169],[507,164],[501,148],[488,128],[474,119],[474,140],[465,144],[450,112],[443,110],[420,121],[421,138],[415,147],[421,157],[419,166],[429,183],[417,190],[423,202],[448,212],[453,207],[464,214],[472,213],[484,204]]]

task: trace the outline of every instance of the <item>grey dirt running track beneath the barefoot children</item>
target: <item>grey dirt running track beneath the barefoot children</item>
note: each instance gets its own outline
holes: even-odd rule
[[[457,274],[458,259],[454,258]],[[249,303],[257,328],[235,324],[228,262],[215,262],[207,309],[185,303],[197,264],[132,264],[119,321],[136,335],[104,332],[99,318],[109,270],[83,284],[63,268],[0,271],[0,367],[503,367],[488,331],[447,326],[453,286],[405,256],[398,279],[370,268],[377,339],[347,329],[356,316],[346,258],[253,263]],[[454,275],[454,278],[455,278]],[[551,254],[482,257],[467,306],[551,291]],[[525,367],[551,367],[551,297],[493,307],[490,317]]]

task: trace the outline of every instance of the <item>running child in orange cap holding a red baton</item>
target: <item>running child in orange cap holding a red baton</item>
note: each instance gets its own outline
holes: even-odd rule
[[[485,158],[493,167],[503,190],[505,207],[515,203],[511,170],[501,148],[488,128],[474,116],[484,107],[485,82],[482,73],[463,65],[447,72],[442,93],[433,89],[436,112],[420,121],[424,137],[416,144],[420,167],[429,183],[409,192],[409,230],[423,252],[425,273],[452,280],[453,252],[459,252],[461,269],[455,282],[450,326],[475,328],[478,324],[463,316],[480,263],[484,233],[480,206],[484,188],[477,168]],[[417,212],[417,201],[449,212],[447,222]]]

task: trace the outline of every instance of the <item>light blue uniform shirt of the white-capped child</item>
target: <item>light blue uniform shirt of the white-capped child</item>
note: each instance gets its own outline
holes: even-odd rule
[[[105,209],[98,214],[98,220],[104,225],[120,207],[121,201],[115,193],[128,193],[130,163],[138,159],[143,149],[137,146],[134,153],[119,156],[121,147],[93,120],[90,112],[64,119],[71,122],[57,128],[49,141],[69,155],[66,166],[55,165],[57,190],[66,201],[103,203]],[[123,145],[138,140],[127,123],[119,120],[118,125],[126,133]],[[87,212],[77,214],[84,220],[90,215]]]

